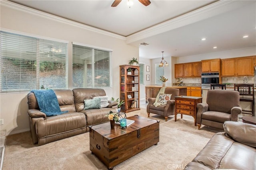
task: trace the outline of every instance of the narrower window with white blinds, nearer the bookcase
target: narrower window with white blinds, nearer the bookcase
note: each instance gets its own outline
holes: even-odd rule
[[[73,88],[112,87],[111,53],[73,42]]]

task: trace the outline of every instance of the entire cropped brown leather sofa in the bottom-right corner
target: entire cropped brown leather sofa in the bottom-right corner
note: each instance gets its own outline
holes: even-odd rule
[[[256,125],[225,121],[184,170],[256,169]]]

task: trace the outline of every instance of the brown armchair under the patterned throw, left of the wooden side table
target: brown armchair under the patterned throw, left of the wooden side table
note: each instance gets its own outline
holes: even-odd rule
[[[174,115],[175,111],[175,96],[179,95],[179,89],[176,88],[166,88],[164,91],[164,94],[172,94],[170,100],[166,102],[165,105],[160,106],[154,106],[154,102],[156,101],[156,98],[149,98],[148,99],[148,106],[147,106],[147,113],[148,117],[150,113],[154,113],[157,115],[163,115],[165,118],[165,121],[168,120],[169,115]]]

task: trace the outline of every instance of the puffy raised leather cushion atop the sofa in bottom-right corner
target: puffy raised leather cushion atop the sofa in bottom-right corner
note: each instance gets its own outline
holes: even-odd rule
[[[223,127],[226,137],[256,148],[256,125],[236,121],[225,121]]]

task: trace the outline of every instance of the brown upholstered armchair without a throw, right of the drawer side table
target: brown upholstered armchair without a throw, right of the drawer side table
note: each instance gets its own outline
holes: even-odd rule
[[[196,105],[196,123],[223,129],[225,121],[238,121],[242,113],[239,107],[239,92],[233,90],[208,90],[206,103]]]

